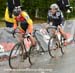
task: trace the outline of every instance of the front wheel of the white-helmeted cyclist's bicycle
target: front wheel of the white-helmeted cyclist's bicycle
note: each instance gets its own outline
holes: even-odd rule
[[[63,54],[63,49],[57,37],[51,37],[48,43],[49,55],[54,58]]]

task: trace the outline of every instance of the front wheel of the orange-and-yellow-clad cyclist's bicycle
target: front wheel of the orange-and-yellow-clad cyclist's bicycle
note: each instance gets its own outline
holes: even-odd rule
[[[9,66],[11,69],[21,68],[23,60],[23,54],[25,50],[23,50],[21,43],[17,43],[11,50],[9,55]]]

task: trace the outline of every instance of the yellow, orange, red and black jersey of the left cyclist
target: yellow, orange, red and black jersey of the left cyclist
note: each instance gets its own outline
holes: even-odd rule
[[[20,25],[20,28],[22,30],[24,30],[24,27],[25,27],[25,29],[28,29],[29,33],[32,33],[33,21],[31,20],[31,18],[29,17],[29,15],[26,12],[22,11],[19,16],[14,16],[14,29],[17,28],[18,22],[20,22],[20,23],[26,22],[26,24]],[[28,26],[28,27],[26,27],[26,26]]]

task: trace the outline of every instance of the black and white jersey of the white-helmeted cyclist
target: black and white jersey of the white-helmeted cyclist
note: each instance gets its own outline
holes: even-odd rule
[[[64,24],[64,16],[61,11],[57,11],[54,15],[48,11],[48,23],[52,22],[54,26]]]

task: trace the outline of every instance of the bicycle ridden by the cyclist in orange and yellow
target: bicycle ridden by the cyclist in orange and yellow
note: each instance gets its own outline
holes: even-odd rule
[[[12,34],[12,32],[10,32],[9,30],[5,29],[8,33]],[[41,43],[40,41],[38,40],[38,38],[36,37],[36,32],[38,30],[34,30],[34,38],[36,39],[37,41],[37,46],[39,49],[37,49],[37,46],[36,47],[33,47],[32,45],[30,45],[29,47],[29,50],[27,51],[27,48],[26,48],[26,43],[28,41],[28,43],[31,43],[31,41],[29,40],[29,36],[27,36],[28,34],[23,34],[23,40],[21,40],[20,42],[17,42],[14,47],[12,48],[11,52],[10,52],[10,55],[9,55],[9,67],[11,69],[16,69],[16,68],[19,68],[19,66],[21,66],[21,63],[23,63],[25,60],[27,60],[28,58],[28,61],[30,63],[30,65],[33,64],[33,58],[34,56],[36,55],[39,55],[41,53],[44,53],[44,49],[42,48],[41,46]],[[15,34],[18,33],[20,34],[20,32],[15,32]],[[13,35],[14,38],[15,35]],[[24,40],[27,39],[26,43],[24,42]],[[18,63],[18,62],[19,63]],[[16,64],[15,64],[16,62]],[[18,66],[17,66],[18,64]]]

